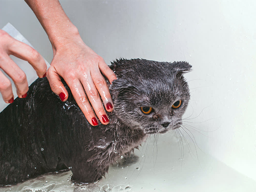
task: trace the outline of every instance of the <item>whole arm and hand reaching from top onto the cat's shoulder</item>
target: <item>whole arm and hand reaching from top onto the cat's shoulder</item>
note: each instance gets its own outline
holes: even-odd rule
[[[109,118],[104,108],[111,112],[113,101],[103,75],[112,82],[116,79],[114,72],[83,42],[78,29],[71,23],[58,0],[25,1],[52,44],[54,58],[47,71],[52,91],[61,101],[68,99],[62,77],[88,122],[96,126],[99,119],[102,124],[108,124]]]

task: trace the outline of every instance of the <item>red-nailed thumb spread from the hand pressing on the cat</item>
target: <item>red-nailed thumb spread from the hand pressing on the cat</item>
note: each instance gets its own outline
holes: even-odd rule
[[[49,67],[46,73],[52,92],[59,96],[61,101],[67,101],[68,91],[61,82],[60,76],[53,66]]]

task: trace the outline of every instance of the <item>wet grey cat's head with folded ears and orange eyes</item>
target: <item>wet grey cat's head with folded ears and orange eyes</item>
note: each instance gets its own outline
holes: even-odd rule
[[[165,133],[182,124],[190,97],[183,74],[191,65],[120,59],[110,68],[117,76],[110,90],[119,121],[146,134]]]

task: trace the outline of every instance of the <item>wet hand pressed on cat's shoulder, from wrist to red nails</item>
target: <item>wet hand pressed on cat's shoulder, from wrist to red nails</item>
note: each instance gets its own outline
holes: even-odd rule
[[[52,91],[61,101],[67,100],[68,92],[61,82],[62,77],[88,122],[98,125],[98,117],[102,124],[108,124],[102,101],[109,112],[113,110],[113,101],[103,75],[112,82],[116,79],[114,72],[103,58],[84,44],[79,34],[52,44],[54,58],[47,71]]]

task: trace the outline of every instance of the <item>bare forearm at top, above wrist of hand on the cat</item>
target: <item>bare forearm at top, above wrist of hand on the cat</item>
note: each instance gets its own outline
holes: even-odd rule
[[[58,46],[65,44],[67,38],[80,37],[76,26],[71,23],[58,0],[25,0],[25,2],[45,29],[55,51]]]

